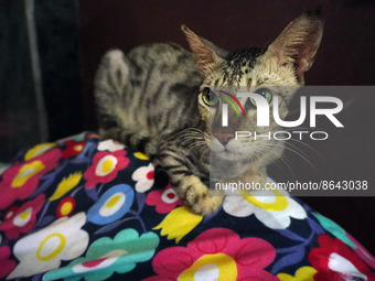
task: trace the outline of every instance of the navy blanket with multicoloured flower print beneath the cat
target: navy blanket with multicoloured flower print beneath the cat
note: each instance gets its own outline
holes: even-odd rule
[[[197,216],[143,154],[89,132],[19,153],[0,194],[0,279],[375,280],[375,258],[299,199]]]

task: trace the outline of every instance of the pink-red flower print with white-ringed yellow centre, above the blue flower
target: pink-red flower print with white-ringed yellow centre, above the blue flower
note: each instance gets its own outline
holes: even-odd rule
[[[85,186],[93,188],[98,183],[113,181],[117,176],[117,172],[127,167],[129,164],[129,159],[125,158],[126,153],[125,150],[97,152],[93,159],[93,164],[84,175],[87,180]]]

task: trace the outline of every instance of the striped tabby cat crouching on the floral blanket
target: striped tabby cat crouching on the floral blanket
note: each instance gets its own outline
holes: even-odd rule
[[[267,48],[228,52],[182,25],[192,53],[173,43],[141,45],[127,55],[111,50],[95,78],[100,134],[149,155],[193,213],[210,215],[223,201],[223,194],[210,193],[210,180],[264,184],[267,165],[283,151],[282,141],[234,138],[248,128],[261,134],[279,127],[275,121],[257,127],[248,98],[240,100],[246,117],[229,110],[228,120],[235,121],[223,127],[225,93],[217,89],[245,88],[268,101],[277,95],[286,117],[293,91],[278,89],[304,84],[323,23],[319,9],[303,13]]]

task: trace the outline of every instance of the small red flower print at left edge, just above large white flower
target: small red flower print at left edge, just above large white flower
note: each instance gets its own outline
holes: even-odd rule
[[[36,214],[44,205],[44,194],[39,195],[33,201],[29,201],[20,208],[12,207],[7,212],[0,230],[6,233],[8,239],[14,239],[20,234],[31,230],[36,221]]]

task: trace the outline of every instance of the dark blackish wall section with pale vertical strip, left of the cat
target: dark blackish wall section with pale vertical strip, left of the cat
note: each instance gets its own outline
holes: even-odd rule
[[[77,1],[0,0],[0,162],[83,130]]]

